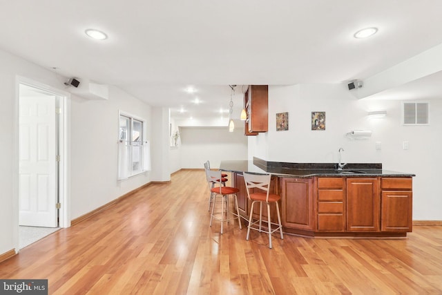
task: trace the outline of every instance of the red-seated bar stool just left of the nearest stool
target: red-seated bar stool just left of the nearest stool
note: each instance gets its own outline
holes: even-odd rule
[[[223,223],[224,221],[227,221],[227,223],[230,222],[232,219],[238,219],[238,223],[240,225],[240,229],[242,229],[241,226],[241,220],[240,220],[240,211],[238,209],[238,200],[236,197],[236,193],[240,191],[236,187],[226,187],[222,185],[222,177],[221,177],[221,171],[211,171],[206,169],[206,179],[207,183],[209,184],[209,190],[211,192],[211,198],[213,197],[213,205],[212,205],[212,211],[210,215],[210,226],[212,226],[212,220],[213,218],[220,220],[221,222],[221,234],[223,231]],[[218,184],[218,186],[216,186]],[[235,201],[236,205],[236,213],[230,212],[229,209],[229,196],[233,196],[233,199]],[[221,199],[221,211],[215,212],[215,203],[217,199]],[[224,209],[225,204],[225,209]],[[226,214],[226,216],[224,216]],[[220,217],[218,217],[220,215]],[[236,216],[231,218],[230,215]]]

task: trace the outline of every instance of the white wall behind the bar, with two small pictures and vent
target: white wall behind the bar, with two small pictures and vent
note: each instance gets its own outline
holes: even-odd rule
[[[367,111],[387,110],[384,119],[370,119]],[[326,112],[325,131],[311,131],[311,112]],[[383,168],[415,173],[413,219],[442,220],[442,196],[437,186],[442,163],[442,98],[430,101],[429,126],[403,126],[400,100],[356,99],[340,84],[269,87],[269,132],[249,137],[253,155],[281,162],[381,162]],[[289,112],[289,130],[276,131],[276,113]],[[350,140],[345,133],[369,129],[368,140]],[[403,142],[410,149],[403,150]],[[381,142],[381,150],[376,150]]]

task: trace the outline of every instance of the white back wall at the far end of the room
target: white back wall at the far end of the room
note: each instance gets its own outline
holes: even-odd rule
[[[181,166],[187,169],[203,169],[210,161],[211,168],[218,168],[222,160],[247,160],[247,137],[244,129],[229,132],[223,127],[180,127]]]

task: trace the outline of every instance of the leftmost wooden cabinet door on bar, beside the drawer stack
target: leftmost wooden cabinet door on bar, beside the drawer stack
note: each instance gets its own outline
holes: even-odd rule
[[[313,180],[280,178],[282,226],[292,229],[314,229]]]

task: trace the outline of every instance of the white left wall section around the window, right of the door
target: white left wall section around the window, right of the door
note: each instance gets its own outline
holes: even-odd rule
[[[72,95],[71,217],[93,211],[150,181],[150,173],[117,181],[119,111],[146,121],[144,138],[151,140],[151,107],[111,86],[108,100]],[[152,140],[151,140],[152,141]]]

